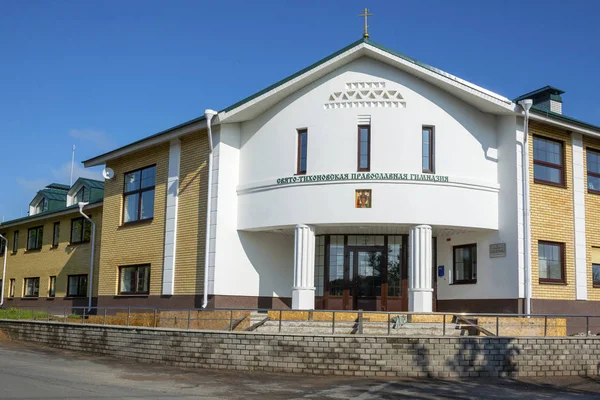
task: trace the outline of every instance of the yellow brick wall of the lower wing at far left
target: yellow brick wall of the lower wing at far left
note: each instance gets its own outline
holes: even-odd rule
[[[97,295],[98,265],[100,259],[100,237],[102,235],[102,206],[86,210],[96,223],[96,250],[94,254],[94,296]],[[23,295],[23,282],[25,278],[40,278],[39,297],[47,297],[50,285],[50,276],[56,276],[56,298],[64,298],[67,292],[69,275],[88,274],[90,270],[91,243],[70,245],[71,219],[80,216],[78,210],[73,210],[66,215],[48,216],[41,221],[24,222],[23,224],[1,228],[0,232],[8,238],[8,258],[6,262],[6,282],[4,296],[8,297],[10,279],[15,279],[15,298]],[[52,248],[54,236],[54,223],[60,222],[59,245]],[[43,226],[42,248],[40,250],[27,250],[27,231],[29,228]],[[18,250],[12,252],[13,233],[19,231]],[[0,259],[2,262],[3,259]],[[0,276],[2,269],[0,268]],[[7,306],[10,301],[7,300]],[[44,304],[52,306],[51,302]]]

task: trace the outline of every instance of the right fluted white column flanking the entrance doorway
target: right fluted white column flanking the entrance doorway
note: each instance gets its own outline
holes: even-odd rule
[[[415,226],[409,237],[408,311],[433,310],[431,227]]]

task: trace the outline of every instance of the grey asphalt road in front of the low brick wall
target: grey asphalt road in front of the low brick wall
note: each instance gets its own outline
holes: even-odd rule
[[[524,383],[243,374],[181,370],[0,341],[0,399],[404,398],[600,399],[600,379]]]

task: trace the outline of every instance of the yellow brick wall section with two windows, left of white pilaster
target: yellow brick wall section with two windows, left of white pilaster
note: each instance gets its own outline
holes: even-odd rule
[[[148,221],[122,223],[123,185],[127,172],[156,165],[154,218]],[[100,254],[100,296],[118,292],[119,267],[150,264],[150,294],[159,295],[162,285],[162,263],[165,243],[165,203],[169,171],[169,143],[159,144],[127,156],[111,160],[107,167],[115,171],[104,182],[104,214]]]

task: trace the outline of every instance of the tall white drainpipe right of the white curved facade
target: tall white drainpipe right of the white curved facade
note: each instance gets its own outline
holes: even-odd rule
[[[524,99],[519,105],[525,111],[523,129],[523,149],[521,151],[521,168],[523,177],[523,250],[524,250],[524,283],[525,283],[525,314],[531,314],[531,211],[529,209],[529,109],[533,100]]]

